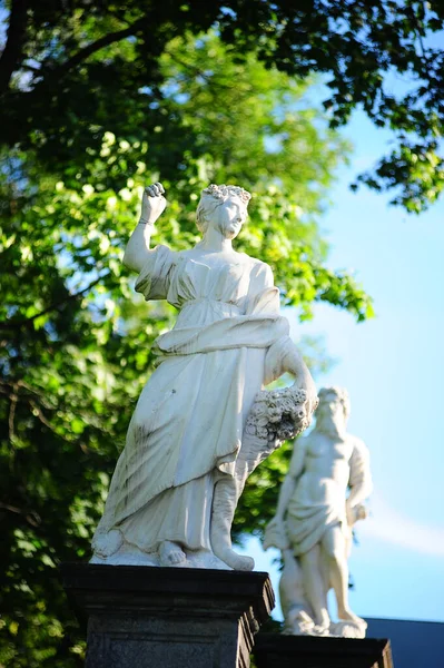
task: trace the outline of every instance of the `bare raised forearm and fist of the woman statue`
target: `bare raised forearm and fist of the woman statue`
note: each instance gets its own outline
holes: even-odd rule
[[[159,183],[144,190],[140,220],[131,234],[124,255],[124,264],[134,272],[140,272],[148,255],[152,228],[165,210],[167,200],[164,186]]]

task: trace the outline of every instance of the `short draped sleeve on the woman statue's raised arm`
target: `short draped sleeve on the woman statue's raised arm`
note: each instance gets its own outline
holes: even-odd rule
[[[148,250],[148,257],[136,281],[136,291],[147,299],[166,299],[175,254],[167,246]]]

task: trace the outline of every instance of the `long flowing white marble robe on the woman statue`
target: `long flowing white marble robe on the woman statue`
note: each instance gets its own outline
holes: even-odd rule
[[[155,342],[158,366],[132,415],[96,544],[119,529],[145,552],[165,540],[210,549],[215,481],[234,475],[254,397],[282,373],[290,344],[268,265],[245,254],[219,263],[158,246],[139,274],[136,289],[179,315]]]

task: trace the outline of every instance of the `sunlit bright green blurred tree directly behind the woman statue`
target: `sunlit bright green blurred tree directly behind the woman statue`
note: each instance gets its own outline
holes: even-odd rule
[[[316,299],[357,320],[372,314],[353,278],[326,267],[316,220],[347,147],[306,101],[308,84],[265,69],[254,55],[238,61],[215,35],[175,38],[158,70],[162,102],[152,128],[132,122],[139,106],[129,98],[127,134],[97,129],[97,146],[88,145],[81,160],[72,146],[58,174],[37,144],[3,154],[0,662],[7,666],[81,665],[83,648],[55,567],[88,557],[150,372],[150,344],[172,317],[171,307],[135,299],[120,264],[144,185],[161,173],[169,206],[156,240],[181,248],[196,239],[199,189],[239,179],[254,193],[241,248],[274,266],[284,303],[300,317],[309,317]],[[112,118],[111,110],[111,125]],[[279,478],[279,466],[268,481]]]

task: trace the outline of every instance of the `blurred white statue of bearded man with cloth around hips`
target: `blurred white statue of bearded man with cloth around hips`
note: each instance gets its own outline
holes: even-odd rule
[[[366,518],[363,501],[372,491],[366,445],[346,431],[347,392],[319,391],[316,426],[295,443],[289,471],[268,524],[265,549],[282,550],[279,592],[285,632],[363,638],[366,622],[348,605],[352,527]],[[333,589],[339,621],[330,619]]]

